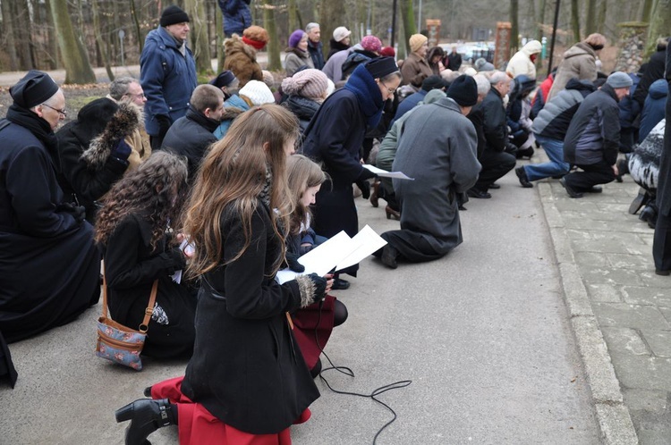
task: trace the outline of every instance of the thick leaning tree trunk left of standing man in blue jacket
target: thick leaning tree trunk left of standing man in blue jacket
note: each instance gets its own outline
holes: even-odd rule
[[[58,46],[61,48],[65,65],[65,83],[95,83],[96,75],[91,69],[89,57],[80,40],[74,35],[67,0],[52,0],[52,2],[51,13],[54,16]]]

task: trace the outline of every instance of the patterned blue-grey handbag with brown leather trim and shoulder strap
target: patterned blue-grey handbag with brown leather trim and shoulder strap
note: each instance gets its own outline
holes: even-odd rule
[[[104,266],[103,266],[104,267]],[[149,320],[154,313],[154,302],[158,290],[158,280],[154,281],[149,297],[149,306],[144,311],[144,319],[135,331],[107,316],[107,281],[103,268],[103,315],[98,318],[98,342],[96,355],[111,362],[142,370],[140,353],[149,330]]]

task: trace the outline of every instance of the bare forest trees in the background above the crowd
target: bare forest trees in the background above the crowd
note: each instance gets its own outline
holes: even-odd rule
[[[325,46],[333,29],[352,30],[352,43],[371,33],[389,45],[396,7],[395,42],[398,58],[407,52],[407,39],[424,29],[427,19],[441,21],[440,42],[471,41],[484,29],[494,39],[497,21],[510,21],[511,47],[522,38],[549,37],[557,0],[251,0],[254,24],[268,29],[268,69],[281,70],[280,52],[293,29],[310,21],[321,25]],[[0,0],[2,38],[0,71],[66,70],[66,83],[96,81],[92,66],[139,63],[144,39],[158,25],[160,12],[177,4],[191,17],[189,45],[203,76],[211,75],[211,59],[222,66],[224,34],[217,0]],[[557,47],[563,48],[592,32],[616,45],[619,24],[649,23],[646,53],[658,37],[671,35],[671,0],[564,0],[559,4]],[[419,23],[418,23],[419,22]],[[418,24],[420,26],[418,26]],[[613,53],[615,53],[614,51]],[[324,53],[327,54],[327,47]],[[555,52],[553,64],[561,51]]]

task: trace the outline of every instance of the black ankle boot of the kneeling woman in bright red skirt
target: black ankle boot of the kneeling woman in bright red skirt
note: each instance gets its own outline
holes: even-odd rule
[[[126,428],[126,445],[146,445],[149,434],[163,426],[177,424],[177,407],[168,399],[140,399],[117,409],[115,416],[117,423],[131,421]]]

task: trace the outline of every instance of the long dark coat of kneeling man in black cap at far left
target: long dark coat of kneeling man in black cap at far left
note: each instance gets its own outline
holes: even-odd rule
[[[90,224],[60,206],[63,191],[43,142],[17,123],[0,139],[0,332],[12,342],[95,304],[100,255]]]

